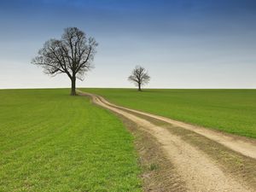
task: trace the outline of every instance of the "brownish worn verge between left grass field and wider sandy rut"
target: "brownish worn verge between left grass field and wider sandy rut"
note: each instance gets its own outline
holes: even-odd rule
[[[143,131],[136,123],[118,113],[117,115],[135,137],[138,160],[143,169],[143,191],[187,191],[183,178],[177,173],[177,169],[168,159],[160,143],[152,135]]]

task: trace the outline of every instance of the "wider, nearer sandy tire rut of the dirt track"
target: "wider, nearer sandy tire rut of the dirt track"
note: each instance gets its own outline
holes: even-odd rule
[[[180,137],[172,135],[166,128],[154,125],[148,120],[137,117],[121,108],[115,108],[114,105],[106,102],[100,96],[89,93],[83,93],[83,95],[91,96],[92,101],[97,105],[125,116],[139,125],[143,131],[153,136],[175,166],[178,175],[186,183],[187,191],[253,191],[245,183],[225,174],[207,154],[184,142]],[[179,189],[176,185],[177,182],[174,181],[172,184],[173,191]]]

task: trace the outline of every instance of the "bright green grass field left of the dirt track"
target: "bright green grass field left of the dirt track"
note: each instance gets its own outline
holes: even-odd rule
[[[0,191],[141,191],[131,134],[69,91],[0,90]]]

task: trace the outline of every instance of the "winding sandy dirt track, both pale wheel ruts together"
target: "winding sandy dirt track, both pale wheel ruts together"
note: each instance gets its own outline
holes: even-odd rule
[[[172,119],[167,119],[157,115],[143,113],[129,108],[122,108],[106,101],[102,96],[96,96],[90,93],[81,92],[81,95],[91,96],[92,101],[103,108],[119,113],[125,118],[135,122],[143,131],[147,131],[161,144],[161,148],[167,157],[176,167],[178,174],[186,183],[188,191],[254,191],[246,186],[240,180],[236,180],[229,174],[225,174],[220,167],[207,154],[200,149],[191,146],[183,141],[180,137],[172,135],[166,128],[157,126],[147,119],[136,116],[134,113],[140,113],[154,119],[160,119],[178,125],[184,129],[195,131],[205,137],[208,137],[218,143],[225,145],[241,154],[256,158],[255,143],[246,141],[235,141],[233,138],[221,135],[215,131],[205,130],[201,127],[184,124]]]

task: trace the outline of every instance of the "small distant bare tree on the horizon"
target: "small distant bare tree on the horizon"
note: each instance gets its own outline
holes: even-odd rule
[[[137,66],[131,72],[131,75],[129,76],[128,80],[137,85],[138,90],[141,91],[142,85],[148,84],[150,77],[144,67]]]

